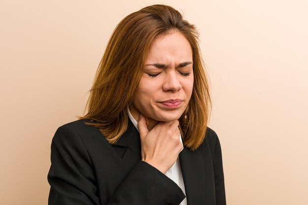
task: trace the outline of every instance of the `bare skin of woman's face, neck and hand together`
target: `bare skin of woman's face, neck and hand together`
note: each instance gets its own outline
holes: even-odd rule
[[[133,97],[130,112],[138,121],[142,160],[162,173],[175,163],[182,148],[178,119],[191,97],[192,63],[191,46],[184,35],[174,31],[159,36]]]

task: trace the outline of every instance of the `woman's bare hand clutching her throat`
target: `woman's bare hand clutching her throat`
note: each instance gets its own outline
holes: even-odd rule
[[[149,131],[147,121],[140,114],[138,128],[141,141],[141,159],[165,174],[176,162],[182,149],[179,140],[179,121],[158,122]]]

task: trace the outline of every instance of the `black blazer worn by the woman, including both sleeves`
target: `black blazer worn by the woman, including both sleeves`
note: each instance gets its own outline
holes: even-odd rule
[[[115,146],[87,120],[58,128],[51,145],[49,205],[179,205],[181,188],[141,161],[139,132],[128,128]],[[179,155],[187,205],[225,205],[221,149],[216,133]]]

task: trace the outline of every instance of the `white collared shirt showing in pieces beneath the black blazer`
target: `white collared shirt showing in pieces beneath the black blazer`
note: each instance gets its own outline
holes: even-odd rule
[[[136,127],[136,129],[139,132],[138,122],[131,115],[131,113],[130,113],[128,108],[127,108],[127,113],[128,113],[128,117],[133,122],[134,126]],[[183,142],[182,142],[181,134],[180,134],[180,142],[182,144],[182,150],[183,150]],[[176,184],[178,184],[178,186],[182,189],[182,191],[186,195],[179,157],[178,157],[177,161],[174,163],[174,165],[166,172],[165,175],[168,176],[171,180],[173,180]],[[187,205],[186,198],[181,202],[180,205]]]

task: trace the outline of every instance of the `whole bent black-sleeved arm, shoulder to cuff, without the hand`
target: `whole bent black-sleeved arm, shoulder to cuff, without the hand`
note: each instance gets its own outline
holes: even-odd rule
[[[103,147],[102,147],[103,148]],[[98,190],[88,150],[79,134],[59,128],[51,146],[49,205],[178,205],[185,198],[180,187],[150,164],[138,162],[109,199],[111,190]]]

